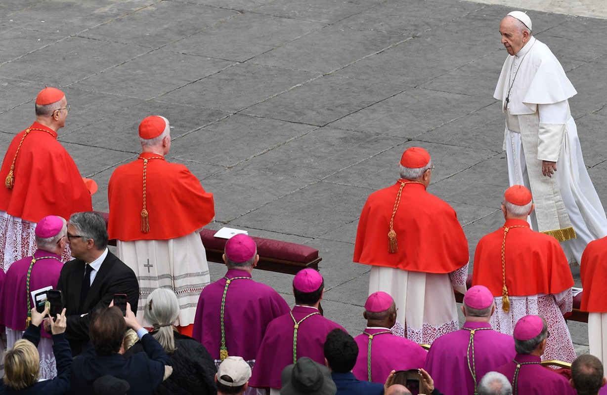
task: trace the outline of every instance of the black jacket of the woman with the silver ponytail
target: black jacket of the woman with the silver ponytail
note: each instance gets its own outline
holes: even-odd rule
[[[216,395],[217,369],[211,354],[197,340],[177,332],[173,335],[176,349],[174,353],[169,354],[173,373],[156,387],[154,394]],[[130,358],[141,351],[141,342],[137,342],[126,351],[124,357]]]

